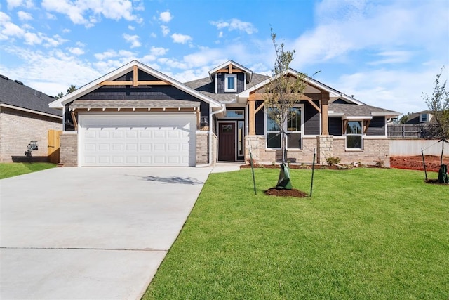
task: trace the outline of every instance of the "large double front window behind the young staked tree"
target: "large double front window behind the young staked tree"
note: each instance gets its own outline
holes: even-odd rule
[[[301,108],[293,107],[292,115],[283,126],[283,131],[287,133],[287,149],[301,148]],[[267,115],[267,148],[281,149],[281,129]]]

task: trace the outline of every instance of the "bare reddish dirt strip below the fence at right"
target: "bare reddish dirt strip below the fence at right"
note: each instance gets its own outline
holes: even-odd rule
[[[426,162],[426,170],[438,172],[440,169],[440,157],[436,155],[424,155]],[[449,157],[443,157],[443,164],[449,164]],[[422,163],[422,156],[396,156],[390,158],[390,167],[396,169],[408,170],[422,170],[424,171],[424,164]]]

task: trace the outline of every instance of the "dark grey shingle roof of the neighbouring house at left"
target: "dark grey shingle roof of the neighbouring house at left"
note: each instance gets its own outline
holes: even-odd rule
[[[0,77],[0,104],[43,112],[49,115],[61,117],[62,111],[48,107],[54,98],[25,86],[20,81]]]

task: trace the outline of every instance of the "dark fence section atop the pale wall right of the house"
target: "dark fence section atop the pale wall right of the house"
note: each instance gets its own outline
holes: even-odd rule
[[[435,126],[429,124],[398,124],[388,125],[389,138],[424,138],[427,140],[437,138]]]

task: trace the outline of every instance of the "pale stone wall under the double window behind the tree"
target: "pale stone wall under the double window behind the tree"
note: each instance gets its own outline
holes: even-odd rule
[[[302,149],[288,149],[286,160],[295,163],[309,164],[314,159],[314,149],[316,148],[316,138],[302,138]],[[282,159],[281,150],[266,148],[264,136],[245,137],[245,160],[250,158],[249,150],[252,150],[253,159],[260,164],[272,164],[280,162]]]

